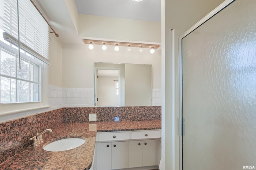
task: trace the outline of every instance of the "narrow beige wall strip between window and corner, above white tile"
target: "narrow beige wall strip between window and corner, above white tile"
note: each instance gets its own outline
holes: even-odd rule
[[[62,87],[62,43],[54,34],[50,34],[49,59],[49,84]]]

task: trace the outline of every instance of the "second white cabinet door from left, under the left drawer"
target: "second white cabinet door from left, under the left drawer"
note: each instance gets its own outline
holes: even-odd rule
[[[112,142],[112,170],[126,168],[126,142]]]

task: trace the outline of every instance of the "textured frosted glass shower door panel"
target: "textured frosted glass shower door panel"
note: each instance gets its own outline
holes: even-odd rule
[[[183,170],[256,168],[256,0],[182,38]]]

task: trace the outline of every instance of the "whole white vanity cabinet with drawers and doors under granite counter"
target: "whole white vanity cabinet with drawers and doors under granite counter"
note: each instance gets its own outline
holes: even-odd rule
[[[161,130],[99,132],[96,135],[96,170],[150,166],[157,168],[157,141]],[[140,168],[138,168],[140,169]]]

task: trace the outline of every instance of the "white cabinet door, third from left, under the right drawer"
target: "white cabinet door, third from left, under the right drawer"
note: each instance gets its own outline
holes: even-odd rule
[[[128,142],[128,168],[142,166],[142,141]]]

